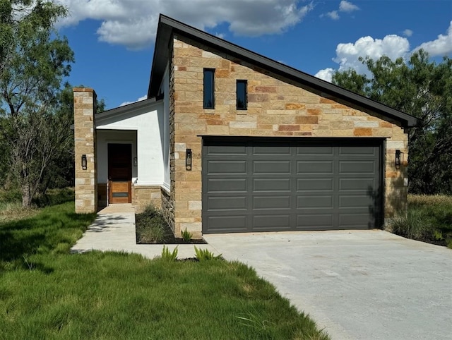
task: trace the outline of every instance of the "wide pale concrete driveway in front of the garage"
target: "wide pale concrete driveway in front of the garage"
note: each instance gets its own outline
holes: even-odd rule
[[[218,234],[332,339],[452,339],[452,250],[386,231]]]

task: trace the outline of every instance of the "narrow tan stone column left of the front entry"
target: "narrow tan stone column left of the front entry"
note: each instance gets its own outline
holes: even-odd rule
[[[95,145],[96,93],[90,88],[73,89],[76,212],[97,211],[97,166]],[[82,167],[83,155],[86,169]]]

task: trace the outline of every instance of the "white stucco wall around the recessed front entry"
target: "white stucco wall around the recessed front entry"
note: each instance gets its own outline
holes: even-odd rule
[[[97,129],[97,181],[108,180],[107,144],[109,142],[131,142],[132,157],[137,157],[138,166],[133,166],[133,182],[143,186],[161,186],[164,181],[162,152],[163,101],[151,102],[131,109],[124,107],[120,114],[96,119]],[[121,108],[122,109],[122,108]]]

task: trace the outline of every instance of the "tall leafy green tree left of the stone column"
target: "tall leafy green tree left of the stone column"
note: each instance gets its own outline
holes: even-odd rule
[[[49,164],[70,145],[56,114],[73,51],[53,25],[66,8],[44,0],[0,0],[0,117],[8,169],[31,205]]]

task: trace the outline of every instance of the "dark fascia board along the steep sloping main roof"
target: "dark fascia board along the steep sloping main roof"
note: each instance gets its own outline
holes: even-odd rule
[[[339,87],[337,85],[333,85],[332,83],[328,83],[325,80],[316,78],[314,75],[309,75],[308,73],[304,73],[295,68],[284,65],[283,63],[278,63],[278,61],[269,59],[266,56],[257,54],[249,49],[239,47],[236,44],[222,40],[219,37],[210,35],[209,33],[198,30],[197,28],[191,27],[162,14],[160,14],[157,36],[155,39],[154,58],[150,75],[148,97],[158,95],[160,83],[162,81],[163,74],[165,73],[167,62],[169,61],[169,44],[173,33],[184,35],[190,39],[201,42],[202,44],[206,44],[208,47],[213,47],[214,49],[225,52],[226,54],[234,56],[237,59],[249,62],[277,75],[281,75],[284,78],[292,80],[294,83],[307,85],[319,92],[325,93],[326,95],[343,99],[345,102],[350,102],[351,104],[355,104],[363,109],[369,109],[381,114],[382,116],[400,121],[404,128],[411,128],[420,123],[419,119],[411,116],[410,114],[405,114],[405,112],[398,111],[392,107],[388,107],[379,102],[375,102],[372,99],[358,95],[355,92],[345,90],[343,87]]]

